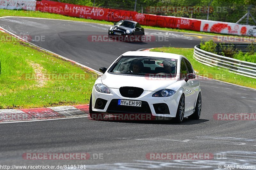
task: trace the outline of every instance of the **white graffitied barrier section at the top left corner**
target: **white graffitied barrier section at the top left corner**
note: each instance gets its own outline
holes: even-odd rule
[[[36,11],[36,0],[0,0],[0,9]]]

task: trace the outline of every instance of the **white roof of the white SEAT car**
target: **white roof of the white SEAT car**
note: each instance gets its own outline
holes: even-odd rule
[[[177,60],[180,60],[182,57],[186,58],[180,54],[152,52],[152,51],[128,51],[122,55],[123,56],[162,57],[162,58],[177,59]]]

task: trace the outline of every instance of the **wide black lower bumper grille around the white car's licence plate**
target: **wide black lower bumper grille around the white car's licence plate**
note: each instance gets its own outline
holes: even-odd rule
[[[111,100],[108,113],[151,113],[148,102],[141,101],[141,107],[118,105],[118,99]]]

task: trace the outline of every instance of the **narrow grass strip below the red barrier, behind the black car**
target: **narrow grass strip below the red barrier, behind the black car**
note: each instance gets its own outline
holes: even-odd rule
[[[64,16],[64,15],[53,14],[53,13],[45,13],[45,12],[39,12],[39,11],[23,11],[23,10],[4,10],[4,9],[0,9],[0,17],[4,17],[4,16],[52,18],[52,19],[64,19],[64,20],[84,21],[84,22],[91,22],[91,23],[100,23],[100,24],[113,25],[113,22],[108,22],[108,21],[68,17],[68,16]],[[175,29],[175,28],[162,28],[162,27],[156,27],[156,26],[145,26],[144,25],[143,27],[148,28],[148,29],[156,29],[156,30],[163,30],[163,31],[176,31],[176,32],[197,33],[197,34],[206,34],[206,35],[226,35],[226,34],[220,34],[220,33],[217,34],[217,33],[211,33],[211,32],[198,32],[198,31],[192,31],[192,30],[182,30],[182,29]]]

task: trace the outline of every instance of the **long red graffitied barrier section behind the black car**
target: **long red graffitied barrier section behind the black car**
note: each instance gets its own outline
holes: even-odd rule
[[[201,21],[197,19],[141,14],[135,11],[95,8],[46,0],[37,1],[36,10],[57,13],[70,17],[105,20],[111,22],[127,19],[137,21],[141,25],[179,28],[195,31],[200,31],[201,25]]]

